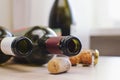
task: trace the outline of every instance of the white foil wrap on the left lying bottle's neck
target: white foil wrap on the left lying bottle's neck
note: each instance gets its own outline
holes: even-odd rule
[[[15,55],[13,52],[12,52],[12,48],[11,48],[11,45],[12,45],[12,42],[13,40],[15,39],[16,37],[5,37],[2,39],[1,41],[1,51],[6,54],[6,55]]]

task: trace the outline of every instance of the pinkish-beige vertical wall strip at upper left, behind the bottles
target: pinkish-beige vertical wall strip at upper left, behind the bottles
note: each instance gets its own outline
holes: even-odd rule
[[[13,29],[30,26],[31,0],[13,0]]]

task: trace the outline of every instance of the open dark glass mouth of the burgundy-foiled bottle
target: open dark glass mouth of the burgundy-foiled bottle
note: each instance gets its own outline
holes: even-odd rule
[[[67,56],[74,56],[77,55],[81,48],[82,44],[80,40],[76,37],[66,37],[67,39],[64,41],[65,46],[63,46],[64,54]],[[66,48],[66,49],[65,49]]]

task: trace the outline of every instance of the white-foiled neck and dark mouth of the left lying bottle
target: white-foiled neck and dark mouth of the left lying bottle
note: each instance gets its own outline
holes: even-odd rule
[[[26,37],[5,37],[1,41],[1,51],[6,55],[24,57],[31,50],[32,42]]]

